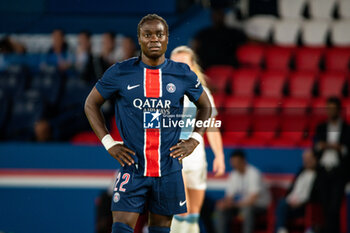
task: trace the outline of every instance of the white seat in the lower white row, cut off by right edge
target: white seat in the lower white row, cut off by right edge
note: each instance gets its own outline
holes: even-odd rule
[[[350,19],[332,23],[331,43],[334,46],[350,47]]]

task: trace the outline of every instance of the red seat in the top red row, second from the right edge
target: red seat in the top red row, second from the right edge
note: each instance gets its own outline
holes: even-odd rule
[[[300,47],[295,52],[295,69],[318,72],[324,54],[324,47]]]

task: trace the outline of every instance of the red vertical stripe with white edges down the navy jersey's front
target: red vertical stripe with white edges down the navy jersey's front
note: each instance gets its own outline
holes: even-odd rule
[[[160,97],[160,70],[145,69],[145,97]],[[145,175],[159,177],[160,174],[160,129],[145,129]]]

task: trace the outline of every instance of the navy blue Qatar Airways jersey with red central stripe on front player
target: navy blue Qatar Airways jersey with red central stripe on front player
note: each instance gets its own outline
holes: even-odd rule
[[[152,67],[131,58],[111,66],[96,89],[104,99],[116,95],[117,127],[124,144],[135,151],[135,163],[144,176],[181,169],[169,149],[179,140],[176,122],[182,119],[183,97],[197,101],[203,91],[187,65],[166,59]]]

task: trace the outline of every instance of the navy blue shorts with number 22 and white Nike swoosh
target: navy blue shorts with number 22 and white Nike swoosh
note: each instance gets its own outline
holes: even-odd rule
[[[154,214],[186,213],[181,170],[161,177],[146,177],[134,166],[122,169],[115,181],[111,210],[143,213],[146,204]]]

